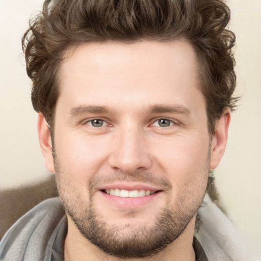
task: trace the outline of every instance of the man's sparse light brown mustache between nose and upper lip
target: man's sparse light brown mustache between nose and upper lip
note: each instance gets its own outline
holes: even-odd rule
[[[165,190],[172,188],[170,181],[165,177],[157,176],[151,172],[133,172],[133,173],[123,173],[123,172],[113,172],[106,174],[95,175],[89,183],[89,191],[93,191],[100,185],[111,184],[118,181],[127,182],[142,182],[148,185],[159,185]]]

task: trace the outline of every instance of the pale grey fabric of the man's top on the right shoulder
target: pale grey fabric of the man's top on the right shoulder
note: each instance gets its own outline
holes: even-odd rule
[[[209,261],[256,260],[245,239],[208,195],[198,212],[194,236]]]

